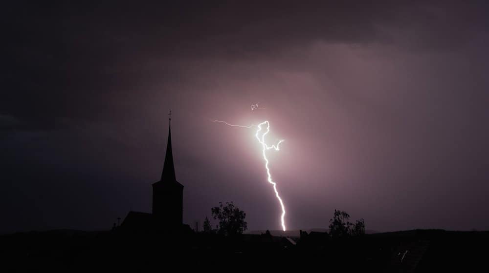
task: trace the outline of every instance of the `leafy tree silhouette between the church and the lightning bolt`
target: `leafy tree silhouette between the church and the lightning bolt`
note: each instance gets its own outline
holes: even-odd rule
[[[219,207],[211,209],[214,219],[219,219],[218,233],[224,235],[242,234],[247,229],[247,223],[244,221],[246,214],[236,207],[233,202],[226,202]]]

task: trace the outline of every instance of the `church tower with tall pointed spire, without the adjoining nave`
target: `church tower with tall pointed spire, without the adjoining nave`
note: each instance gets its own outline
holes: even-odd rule
[[[161,180],[153,184],[153,215],[166,228],[178,229],[183,224],[183,185],[178,183],[175,176],[171,122],[170,116],[168,143]]]

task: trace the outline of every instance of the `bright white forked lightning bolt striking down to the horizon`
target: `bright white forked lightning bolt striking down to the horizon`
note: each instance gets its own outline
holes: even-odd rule
[[[277,183],[275,183],[273,181],[272,175],[270,174],[270,169],[268,168],[268,158],[267,158],[267,153],[266,153],[267,150],[270,150],[270,149],[273,149],[275,151],[280,151],[280,143],[284,142],[284,139],[278,141],[276,145],[271,145],[271,146],[267,145],[267,143],[265,142],[265,136],[268,134],[268,132],[270,132],[270,122],[268,122],[268,120],[265,120],[258,125],[251,124],[249,126],[234,125],[234,124],[230,124],[230,123],[227,123],[226,121],[221,121],[221,120],[212,120],[212,122],[224,123],[225,125],[228,125],[231,127],[240,127],[240,128],[248,128],[248,129],[253,128],[253,127],[258,128],[258,130],[256,131],[256,134],[255,134],[255,137],[258,140],[258,142],[260,142],[260,144],[262,145],[262,154],[263,154],[263,159],[265,160],[265,169],[267,169],[267,181],[268,181],[268,183],[273,185],[273,191],[275,192],[275,196],[277,197],[277,199],[280,203],[280,206],[282,207],[282,215],[280,215],[280,221],[282,223],[283,231],[286,231],[286,227],[285,227],[285,205],[284,205],[284,202],[282,201],[282,198],[280,198],[280,195],[278,193]],[[263,127],[262,127],[263,125],[267,125],[267,127],[265,129],[266,131],[260,137],[260,132],[262,132],[262,130],[263,130]]]

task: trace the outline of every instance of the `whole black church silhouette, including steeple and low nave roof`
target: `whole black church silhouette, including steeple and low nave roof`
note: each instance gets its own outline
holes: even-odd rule
[[[130,211],[121,229],[134,232],[180,230],[183,226],[183,185],[175,176],[172,152],[171,118],[161,179],[153,184],[153,212]]]

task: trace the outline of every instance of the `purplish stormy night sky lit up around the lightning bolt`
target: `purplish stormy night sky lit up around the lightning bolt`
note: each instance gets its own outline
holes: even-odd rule
[[[285,139],[288,229],[489,229],[484,1],[63,2],[1,7],[0,233],[151,212],[170,109],[192,227],[234,201],[280,229],[255,131],[219,119]]]

